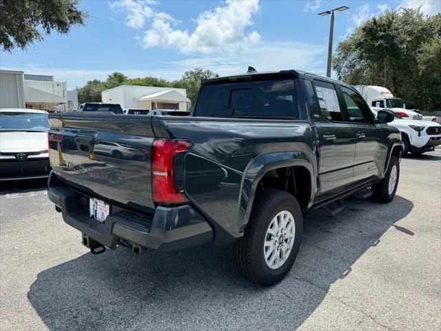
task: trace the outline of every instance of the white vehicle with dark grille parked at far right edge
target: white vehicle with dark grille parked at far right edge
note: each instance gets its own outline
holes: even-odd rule
[[[384,108],[371,107],[375,116],[378,110]],[[393,121],[387,123],[389,126],[397,128],[401,132],[401,139],[404,144],[402,156],[408,152],[412,154],[422,154],[435,149],[435,146],[441,145],[441,125],[429,121],[413,121],[402,118],[399,114],[394,113]]]

